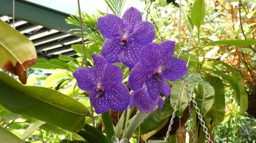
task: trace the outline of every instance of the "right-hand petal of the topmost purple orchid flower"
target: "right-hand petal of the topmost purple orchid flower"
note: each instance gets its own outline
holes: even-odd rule
[[[149,21],[138,21],[129,38],[133,38],[138,44],[145,46],[154,40],[155,28]]]

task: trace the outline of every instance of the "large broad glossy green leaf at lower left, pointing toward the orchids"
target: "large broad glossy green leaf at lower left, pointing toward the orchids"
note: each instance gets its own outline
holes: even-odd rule
[[[11,112],[33,117],[70,132],[78,132],[90,111],[80,102],[60,92],[24,86],[0,72],[0,104]]]

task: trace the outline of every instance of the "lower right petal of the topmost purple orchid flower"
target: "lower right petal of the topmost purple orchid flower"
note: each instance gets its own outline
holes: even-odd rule
[[[127,47],[119,55],[119,60],[129,68],[133,68],[136,63],[140,61],[140,51],[143,46],[137,44],[134,40],[130,39]]]

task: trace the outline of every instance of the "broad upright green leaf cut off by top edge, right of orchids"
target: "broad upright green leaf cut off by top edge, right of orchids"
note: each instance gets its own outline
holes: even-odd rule
[[[195,0],[191,9],[191,20],[193,24],[198,28],[204,22],[205,17],[205,3],[204,0]]]

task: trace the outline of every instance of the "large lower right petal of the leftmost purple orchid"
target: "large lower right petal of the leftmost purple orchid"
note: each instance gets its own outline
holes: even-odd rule
[[[109,99],[109,107],[114,111],[124,111],[130,104],[131,96],[124,83],[107,85],[104,90]]]

